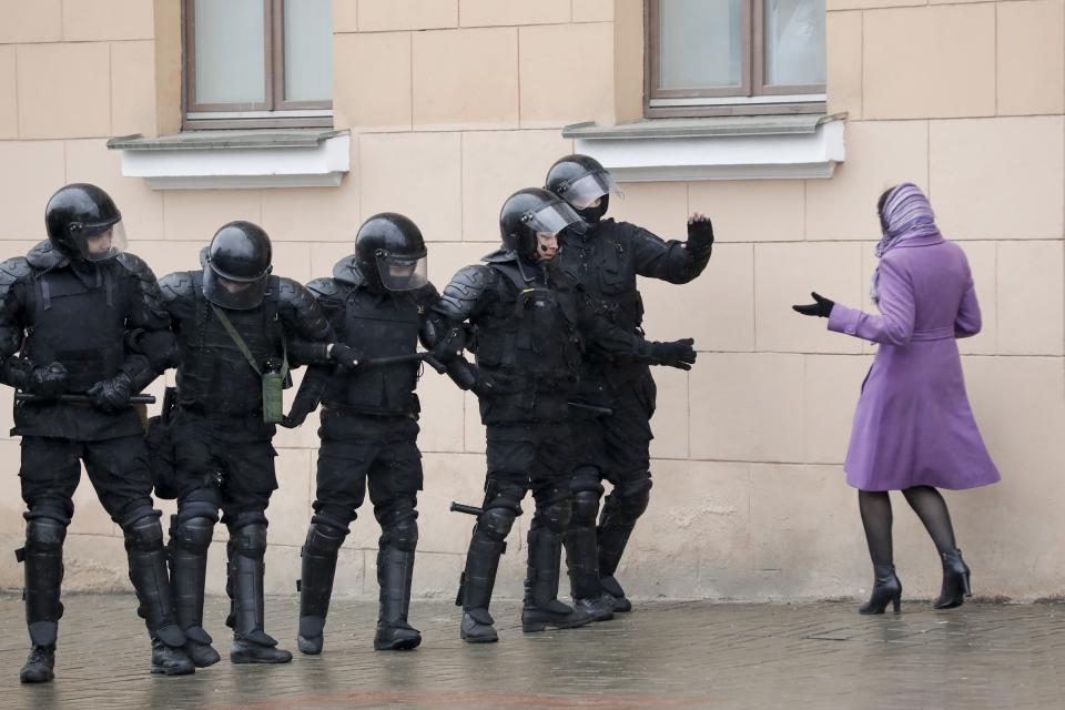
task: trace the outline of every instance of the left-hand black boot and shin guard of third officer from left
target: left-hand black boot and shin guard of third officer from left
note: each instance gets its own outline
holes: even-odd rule
[[[322,631],[333,596],[333,579],[336,576],[336,557],[347,530],[312,523],[307,539],[300,551],[302,558],[300,581],[300,631],[296,646],[302,653],[315,656],[322,652]]]

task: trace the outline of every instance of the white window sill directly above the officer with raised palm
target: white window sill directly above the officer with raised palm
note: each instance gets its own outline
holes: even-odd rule
[[[562,129],[622,182],[831,178],[846,114],[643,119]]]

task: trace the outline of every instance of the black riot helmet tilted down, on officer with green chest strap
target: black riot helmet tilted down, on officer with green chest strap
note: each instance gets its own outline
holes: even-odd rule
[[[251,222],[230,222],[200,252],[203,295],[211,303],[246,311],[263,302],[273,250],[266,232]]]

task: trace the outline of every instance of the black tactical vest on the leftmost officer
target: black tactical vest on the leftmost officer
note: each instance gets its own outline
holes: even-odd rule
[[[31,282],[22,354],[41,365],[62,363],[73,393],[113,377],[125,359],[129,280],[118,278],[110,264],[100,264],[95,278],[85,286],[68,267],[34,271]]]

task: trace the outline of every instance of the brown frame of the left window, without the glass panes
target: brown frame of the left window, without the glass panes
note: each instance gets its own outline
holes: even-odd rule
[[[195,0],[182,0],[181,120],[183,129],[329,128],[333,125],[332,98],[327,101],[285,99],[285,0],[262,0],[262,2],[263,95],[265,99],[248,103],[197,103],[196,3]],[[212,113],[220,115],[210,118],[207,114]],[[247,115],[233,115],[242,113]]]

